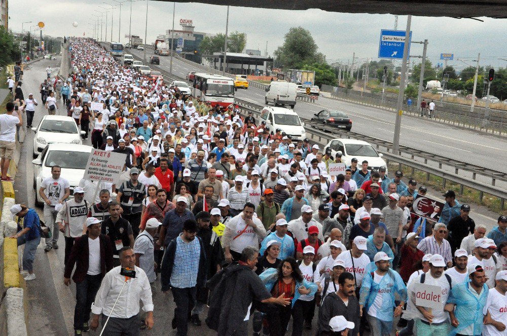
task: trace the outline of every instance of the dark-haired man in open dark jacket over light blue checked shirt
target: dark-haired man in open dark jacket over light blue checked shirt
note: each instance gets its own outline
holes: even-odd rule
[[[197,286],[206,283],[206,254],[201,238],[196,237],[197,222],[185,221],[183,233],[171,240],[162,261],[162,291],[172,291],[176,304],[172,328],[177,327],[177,335],[185,336],[188,332],[188,315],[194,308]]]

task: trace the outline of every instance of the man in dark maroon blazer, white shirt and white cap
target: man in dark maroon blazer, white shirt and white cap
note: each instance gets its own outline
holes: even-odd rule
[[[68,286],[70,274],[76,266],[72,279],[76,283],[76,308],[74,330],[76,335],[90,330],[91,305],[104,275],[113,268],[113,248],[108,236],[100,234],[101,221],[94,217],[86,220],[88,234],[76,238],[63,273],[63,283]],[[90,255],[93,256],[90,260]]]

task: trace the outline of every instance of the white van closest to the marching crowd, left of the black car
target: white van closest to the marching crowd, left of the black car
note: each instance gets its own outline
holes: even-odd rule
[[[261,112],[262,120],[266,121],[266,128],[273,134],[277,129],[280,129],[287,135],[292,136],[292,141],[306,138],[305,123],[301,122],[299,115],[292,109],[266,106]]]

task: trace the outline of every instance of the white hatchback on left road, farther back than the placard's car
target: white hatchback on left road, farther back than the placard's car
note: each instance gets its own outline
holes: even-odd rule
[[[33,137],[33,157],[39,156],[44,147],[55,142],[81,145],[81,136],[85,131],[80,131],[74,118],[63,115],[45,115],[38,127],[32,127],[35,132]]]

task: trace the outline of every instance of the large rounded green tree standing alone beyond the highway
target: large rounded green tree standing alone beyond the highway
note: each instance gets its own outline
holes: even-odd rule
[[[317,44],[309,30],[292,27],[285,34],[285,41],[273,53],[277,64],[284,69],[299,69],[304,64],[325,63],[325,56],[319,53]]]

